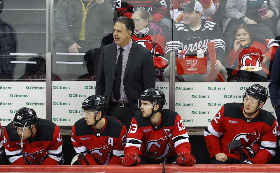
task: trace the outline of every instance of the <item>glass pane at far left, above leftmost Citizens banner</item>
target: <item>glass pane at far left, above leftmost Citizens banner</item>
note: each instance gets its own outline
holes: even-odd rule
[[[46,81],[46,2],[1,2],[0,81]]]

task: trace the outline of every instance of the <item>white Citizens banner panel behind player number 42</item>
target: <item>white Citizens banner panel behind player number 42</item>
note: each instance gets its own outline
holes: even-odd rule
[[[268,90],[269,82],[176,82],[175,111],[187,127],[205,127],[225,103],[242,103],[247,87],[260,84]],[[270,96],[262,109],[276,114]]]

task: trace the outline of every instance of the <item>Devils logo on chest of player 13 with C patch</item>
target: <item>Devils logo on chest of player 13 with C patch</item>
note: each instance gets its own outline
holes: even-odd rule
[[[168,156],[171,146],[171,138],[165,136],[156,141],[149,141],[146,145],[146,158],[162,159]]]

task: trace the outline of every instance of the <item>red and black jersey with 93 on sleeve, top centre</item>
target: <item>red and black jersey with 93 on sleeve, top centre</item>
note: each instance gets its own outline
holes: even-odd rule
[[[155,23],[160,22],[168,12],[166,0],[113,0],[119,16],[131,18],[135,9],[143,8],[153,16]]]

